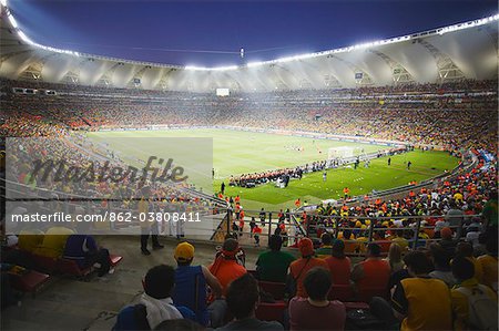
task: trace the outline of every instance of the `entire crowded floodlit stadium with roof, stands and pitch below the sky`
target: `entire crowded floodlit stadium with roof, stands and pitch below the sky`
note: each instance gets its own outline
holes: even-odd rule
[[[499,14],[201,66],[13,8],[2,330],[498,328]]]

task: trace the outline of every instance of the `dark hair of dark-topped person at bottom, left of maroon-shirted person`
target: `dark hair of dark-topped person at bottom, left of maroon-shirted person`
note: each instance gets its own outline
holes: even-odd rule
[[[228,285],[225,301],[228,310],[241,320],[253,313],[258,298],[258,283],[252,275],[245,273]]]

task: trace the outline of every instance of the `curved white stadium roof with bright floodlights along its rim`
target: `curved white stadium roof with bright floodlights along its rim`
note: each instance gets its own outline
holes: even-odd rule
[[[381,86],[493,79],[499,14],[410,35],[241,66],[138,62],[33,42],[0,0],[0,76],[52,83],[213,92]]]

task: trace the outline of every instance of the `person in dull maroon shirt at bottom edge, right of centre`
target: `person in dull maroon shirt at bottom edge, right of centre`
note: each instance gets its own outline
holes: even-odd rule
[[[289,301],[291,330],[345,329],[345,306],[337,300],[327,300],[330,286],[329,271],[313,268],[307,272],[304,287],[308,298],[295,297]]]

